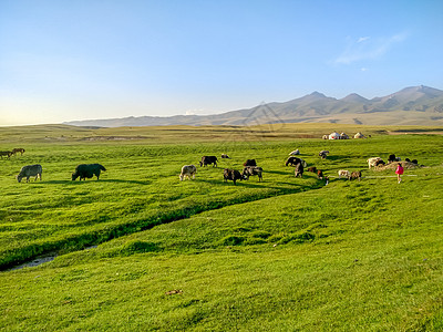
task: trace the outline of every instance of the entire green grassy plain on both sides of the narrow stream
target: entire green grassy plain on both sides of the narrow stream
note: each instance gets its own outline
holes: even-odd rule
[[[0,128],[0,272],[6,331],[441,331],[443,137],[426,127]],[[293,177],[288,153],[330,176]],[[321,149],[330,157],[318,157]],[[203,155],[227,153],[219,166]],[[368,170],[394,153],[425,167]],[[256,158],[264,181],[223,181]],[[43,166],[42,181],[17,183]],[[106,167],[72,181],[81,163]],[[195,180],[178,180],[182,165]],[[363,169],[359,183],[337,170]],[[82,250],[97,246],[89,250]]]

